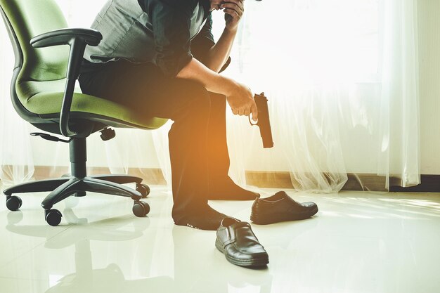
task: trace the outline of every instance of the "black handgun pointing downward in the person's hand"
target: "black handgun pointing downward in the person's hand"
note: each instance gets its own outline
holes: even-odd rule
[[[261,139],[263,140],[263,148],[272,148],[272,129],[271,120],[269,119],[269,110],[267,107],[267,98],[264,96],[264,93],[260,93],[259,95],[254,96],[254,100],[255,104],[257,104],[258,120],[257,123],[253,124],[249,116],[249,122],[252,126],[259,126]]]

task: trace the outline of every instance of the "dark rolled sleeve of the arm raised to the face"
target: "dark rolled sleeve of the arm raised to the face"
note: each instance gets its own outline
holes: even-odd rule
[[[215,45],[214,36],[212,35],[212,15],[209,13],[205,25],[202,30],[191,41],[191,52],[193,56],[201,63],[206,65],[207,53],[212,46]],[[228,57],[226,63],[221,68],[220,72],[224,71],[231,63],[231,57]]]

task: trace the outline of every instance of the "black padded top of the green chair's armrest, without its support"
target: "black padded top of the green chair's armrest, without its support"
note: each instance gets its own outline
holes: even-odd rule
[[[103,35],[101,32],[92,29],[61,29],[39,34],[30,40],[30,44],[34,48],[44,48],[48,46],[70,45],[74,39],[81,39],[89,46],[98,46],[99,42],[103,39]]]

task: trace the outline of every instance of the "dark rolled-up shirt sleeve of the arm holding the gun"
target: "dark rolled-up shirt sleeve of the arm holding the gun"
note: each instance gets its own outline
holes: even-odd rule
[[[190,51],[190,19],[195,1],[138,0],[153,26],[155,63],[168,77],[175,77],[193,58]]]

